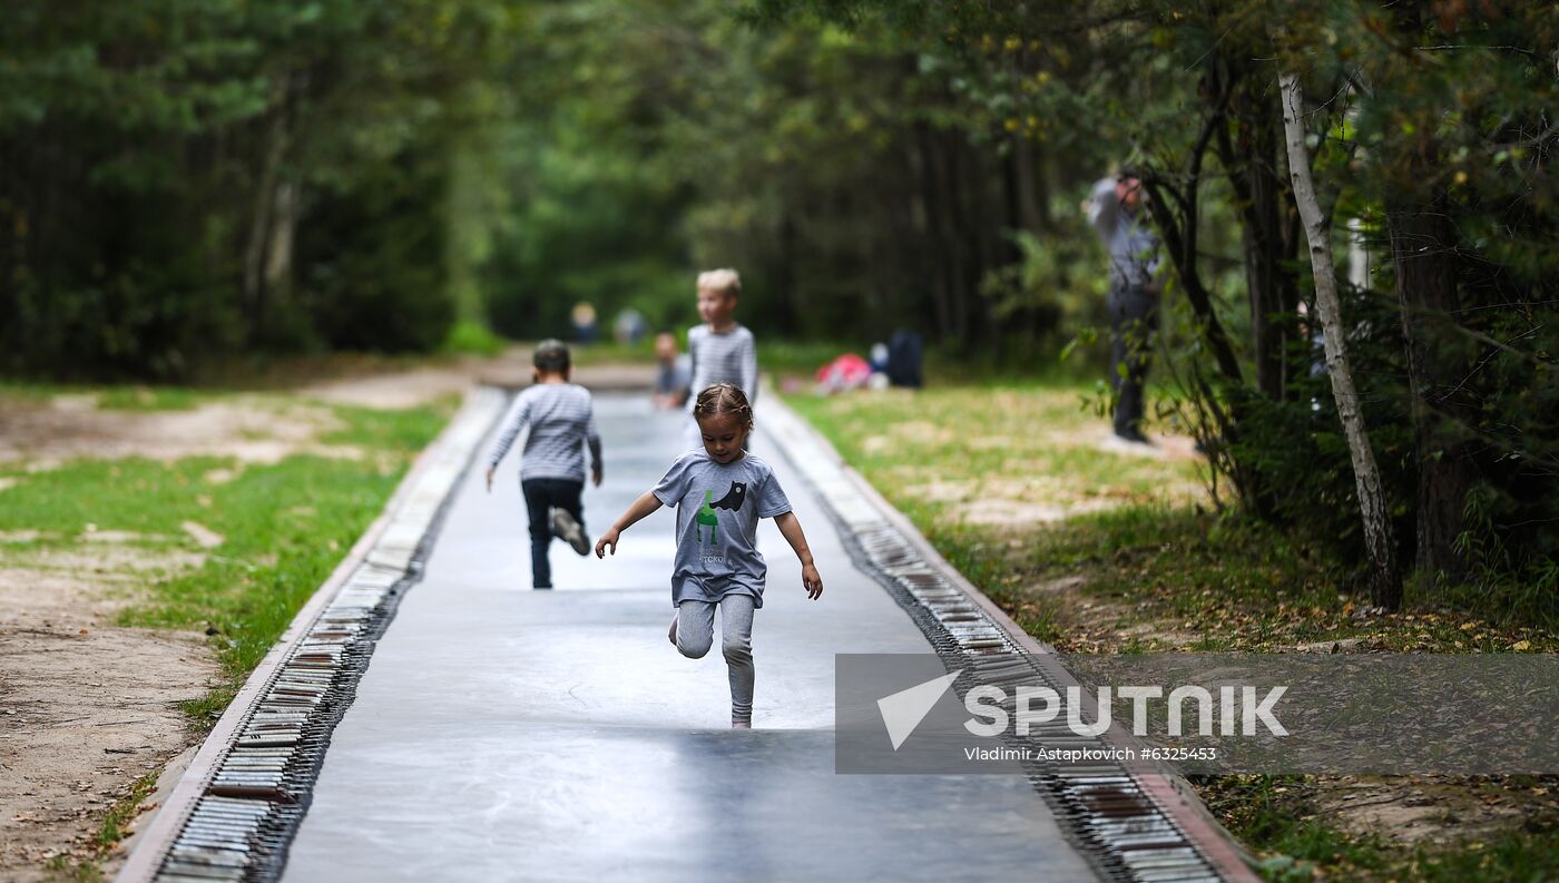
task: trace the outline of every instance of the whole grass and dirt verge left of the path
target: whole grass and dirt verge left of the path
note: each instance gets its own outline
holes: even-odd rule
[[[168,715],[142,736],[156,754],[118,747],[114,739],[123,741],[123,733],[94,727],[73,736],[92,744],[37,744],[16,758],[19,775],[50,786],[58,783],[47,771],[61,764],[81,764],[83,774],[98,769],[94,793],[39,788],[36,807],[19,814],[27,827],[14,833],[27,842],[12,846],[20,853],[47,856],[44,867],[55,878],[101,878],[103,863],[143,810],[156,769],[226,710],[458,401],[443,393],[390,410],[290,392],[0,387],[8,418],[0,424],[0,579],[44,610],[36,621],[27,610],[9,612],[22,619],[0,635],[22,647],[14,661],[25,666],[30,696],[44,697],[22,705],[20,715],[8,711],[11,721],[28,716],[37,732],[78,733],[72,727],[86,713],[83,704],[123,700],[83,693],[73,682],[80,663],[59,665],[64,655],[92,652],[100,632],[120,635],[104,638],[111,644],[133,643],[137,666],[190,655],[190,635],[196,647],[204,637],[210,651],[200,665],[210,671],[209,660],[217,663],[209,690],[179,704],[182,724]],[[90,638],[81,627],[80,644],[72,644],[59,616],[48,621],[50,610],[108,615]],[[154,671],[147,677],[157,679]],[[193,696],[198,683],[175,696]],[[153,758],[156,769],[145,764]]]

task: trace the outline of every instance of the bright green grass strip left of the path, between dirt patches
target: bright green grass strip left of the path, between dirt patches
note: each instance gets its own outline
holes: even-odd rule
[[[200,568],[147,573],[143,596],[118,616],[125,626],[212,633],[226,682],[186,708],[196,724],[209,725],[379,515],[452,406],[446,399],[410,410],[332,409],[343,427],[320,442],[351,446],[362,452],[359,459],[290,456],[274,465],[220,457],[75,460],[36,474],[11,466],[5,474],[25,479],[3,491],[0,530],[44,535],[37,543],[0,546],[0,557],[27,563],[33,552],[87,548],[86,535],[103,530],[143,535],[129,544],[148,554],[200,552],[184,521],[221,534],[224,543]],[[218,470],[237,477],[214,481]]]

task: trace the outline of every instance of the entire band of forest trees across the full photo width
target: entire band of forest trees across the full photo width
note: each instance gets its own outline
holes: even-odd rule
[[[734,265],[761,340],[1037,367],[1102,324],[1077,203],[1130,161],[1160,417],[1222,502],[1363,562],[1292,72],[1398,560],[1554,613],[1556,45],[1550,5],[1495,0],[14,0],[0,359],[178,378],[567,335],[577,301],[683,328]]]

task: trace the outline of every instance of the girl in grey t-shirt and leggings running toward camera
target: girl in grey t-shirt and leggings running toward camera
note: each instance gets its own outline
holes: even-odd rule
[[[661,505],[677,507],[677,616],[667,637],[684,657],[703,657],[714,641],[719,607],[720,649],[731,676],[731,725],[747,729],[753,725],[753,612],[764,605],[769,574],[756,546],[758,520],[773,518],[795,549],[801,587],[812,601],[823,594],[823,577],[817,576],[801,523],[773,468],[742,449],[753,431],[753,409],[742,390],[714,384],[698,393],[692,413],[703,448],[678,457],[659,484],[633,501],[600,535],[596,557],[605,557],[606,549],[616,555],[617,538],[645,515]]]

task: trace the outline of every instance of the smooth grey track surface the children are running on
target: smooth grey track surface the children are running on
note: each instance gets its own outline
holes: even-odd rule
[[[684,420],[636,396],[597,398],[597,418],[592,534],[675,459]],[[720,654],[666,641],[669,510],[616,560],[555,544],[558,590],[533,591],[514,463],[491,495],[472,470],[335,732],[284,880],[1093,880],[1021,777],[834,774],[834,654],[931,647],[786,457],[764,435],[755,452],[826,583],[809,602],[762,524],[755,730],[726,729]]]

